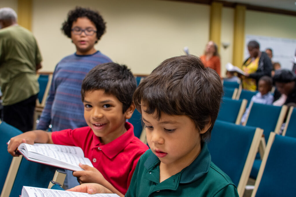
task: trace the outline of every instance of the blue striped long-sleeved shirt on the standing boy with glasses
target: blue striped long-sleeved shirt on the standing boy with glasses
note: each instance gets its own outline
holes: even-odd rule
[[[63,58],[56,66],[46,104],[36,129],[52,131],[87,126],[81,101],[81,84],[86,74],[98,64],[111,62],[100,51],[92,55]]]

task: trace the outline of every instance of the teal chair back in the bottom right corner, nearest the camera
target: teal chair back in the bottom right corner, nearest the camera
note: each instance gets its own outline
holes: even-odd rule
[[[256,196],[295,196],[295,153],[296,138],[275,135]]]

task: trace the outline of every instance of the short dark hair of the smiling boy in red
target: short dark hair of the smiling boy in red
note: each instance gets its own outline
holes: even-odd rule
[[[106,94],[112,94],[122,102],[123,113],[131,106],[133,92],[136,89],[136,79],[126,65],[113,62],[99,64],[89,71],[81,86],[81,99],[85,93],[103,89]]]

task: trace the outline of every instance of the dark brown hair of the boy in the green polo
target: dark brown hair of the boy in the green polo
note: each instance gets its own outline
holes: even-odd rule
[[[207,132],[201,134],[201,141],[210,138],[223,95],[222,83],[216,71],[205,68],[200,58],[187,55],[163,61],[139,84],[133,95],[133,102],[141,112],[156,111],[168,115],[187,115],[200,131],[210,121]]]

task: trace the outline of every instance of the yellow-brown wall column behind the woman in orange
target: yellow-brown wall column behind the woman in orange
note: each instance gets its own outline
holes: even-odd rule
[[[220,49],[221,40],[221,13],[222,3],[213,2],[211,5],[210,15],[210,40],[213,40],[218,45],[218,51]]]

